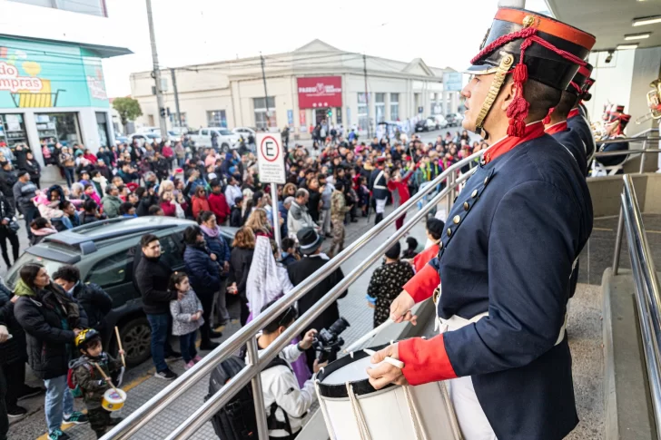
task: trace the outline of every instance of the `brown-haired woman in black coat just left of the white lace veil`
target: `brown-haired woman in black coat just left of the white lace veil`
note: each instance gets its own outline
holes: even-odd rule
[[[228,292],[238,295],[241,301],[241,325],[245,326],[250,316],[248,308],[248,297],[245,293],[248,282],[248,272],[252,264],[252,254],[255,251],[255,235],[250,228],[242,228],[236,231],[232,243],[232,254],[230,256],[230,282],[233,284]]]

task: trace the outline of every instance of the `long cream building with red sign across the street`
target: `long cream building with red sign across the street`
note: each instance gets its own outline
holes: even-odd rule
[[[174,69],[183,125],[271,130],[289,125],[293,132],[307,137],[311,124],[329,113],[334,124],[357,125],[365,131],[369,122],[374,132],[375,124],[381,121],[447,114],[457,112],[459,106],[460,73],[429,67],[419,58],[402,63],[363,57],[320,40],[291,53],[265,55],[264,71],[268,103],[260,57]],[[444,89],[444,73],[452,91]],[[161,77],[169,124],[178,125],[172,71],[163,72]],[[131,90],[143,109],[136,125],[157,125],[159,109],[152,73],[133,73]]]

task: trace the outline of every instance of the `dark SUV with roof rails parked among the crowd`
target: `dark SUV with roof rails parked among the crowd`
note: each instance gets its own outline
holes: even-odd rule
[[[147,360],[151,329],[143,312],[143,299],[133,283],[133,259],[140,238],[154,234],[161,241],[161,259],[173,270],[183,270],[183,230],[192,220],[172,217],[139,217],[96,221],[73,230],[46,237],[25,250],[6,274],[5,283],[14,290],[19,271],[26,263],[40,263],[49,274],[64,264],[80,269],[84,283],[95,283],[113,298],[113,310],[106,316],[108,328],[117,326],[126,352],[126,362],[137,365]],[[222,227],[222,236],[232,244],[236,228]],[[104,347],[117,353],[114,332],[105,336]]]

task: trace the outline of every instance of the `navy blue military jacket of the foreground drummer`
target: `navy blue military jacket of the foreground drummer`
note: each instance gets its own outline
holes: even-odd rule
[[[548,134],[478,166],[449,212],[429,263],[441,280],[439,317],[488,317],[444,333],[443,344],[499,439],[557,440],[578,423],[567,337],[556,342],[592,220],[577,162]],[[402,360],[415,357],[407,342]]]

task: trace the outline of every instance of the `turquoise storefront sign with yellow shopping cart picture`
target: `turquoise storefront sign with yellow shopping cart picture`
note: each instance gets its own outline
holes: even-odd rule
[[[98,54],[0,38],[0,108],[108,107]]]

